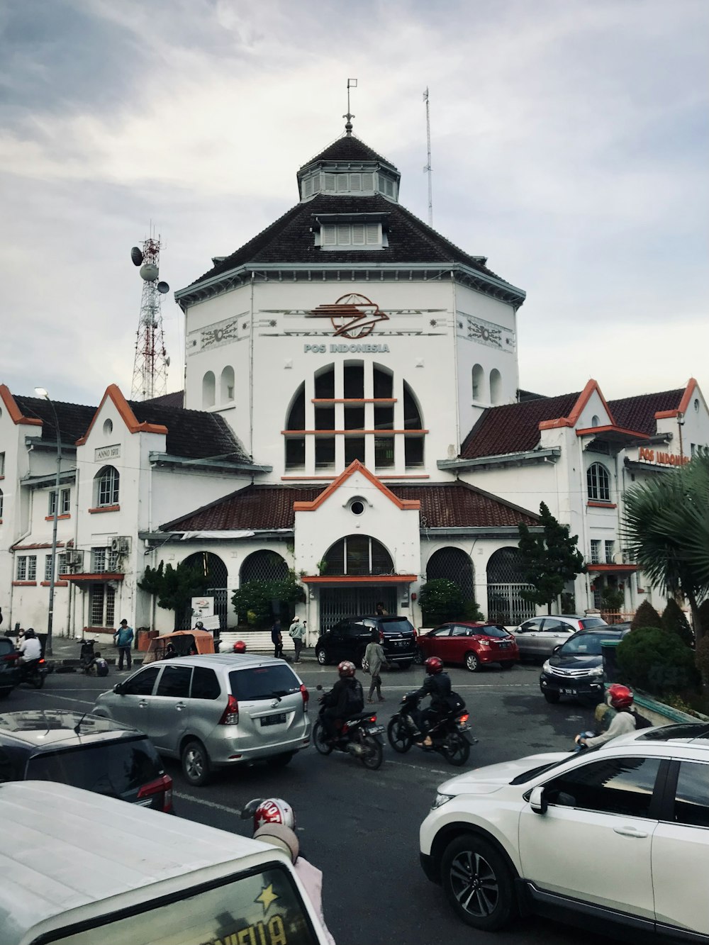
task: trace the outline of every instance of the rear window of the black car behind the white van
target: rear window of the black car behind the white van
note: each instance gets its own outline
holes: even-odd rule
[[[28,781],[59,781],[120,798],[163,773],[147,738],[46,751],[27,762]]]

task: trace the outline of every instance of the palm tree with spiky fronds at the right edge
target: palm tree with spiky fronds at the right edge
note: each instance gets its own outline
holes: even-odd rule
[[[699,640],[699,602],[709,593],[709,450],[628,490],[623,531],[631,556],[652,583],[686,597]]]

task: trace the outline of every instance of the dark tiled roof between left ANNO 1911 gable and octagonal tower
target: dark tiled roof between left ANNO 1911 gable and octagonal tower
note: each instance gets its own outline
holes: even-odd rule
[[[220,414],[165,407],[154,401],[129,401],[129,404],[137,421],[167,427],[165,450],[169,455],[188,459],[218,456],[233,462],[251,462]]]

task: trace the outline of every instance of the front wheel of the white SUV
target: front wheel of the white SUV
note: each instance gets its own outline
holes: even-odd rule
[[[474,833],[448,845],[441,878],[448,902],[468,925],[493,932],[514,917],[517,903],[510,868],[491,844]]]

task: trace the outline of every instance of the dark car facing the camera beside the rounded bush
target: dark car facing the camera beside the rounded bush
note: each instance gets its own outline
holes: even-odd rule
[[[600,702],[603,698],[604,640],[620,641],[630,633],[630,624],[614,624],[579,630],[566,643],[557,646],[542,666],[539,686],[547,702],[562,696],[574,696],[582,702]]]

